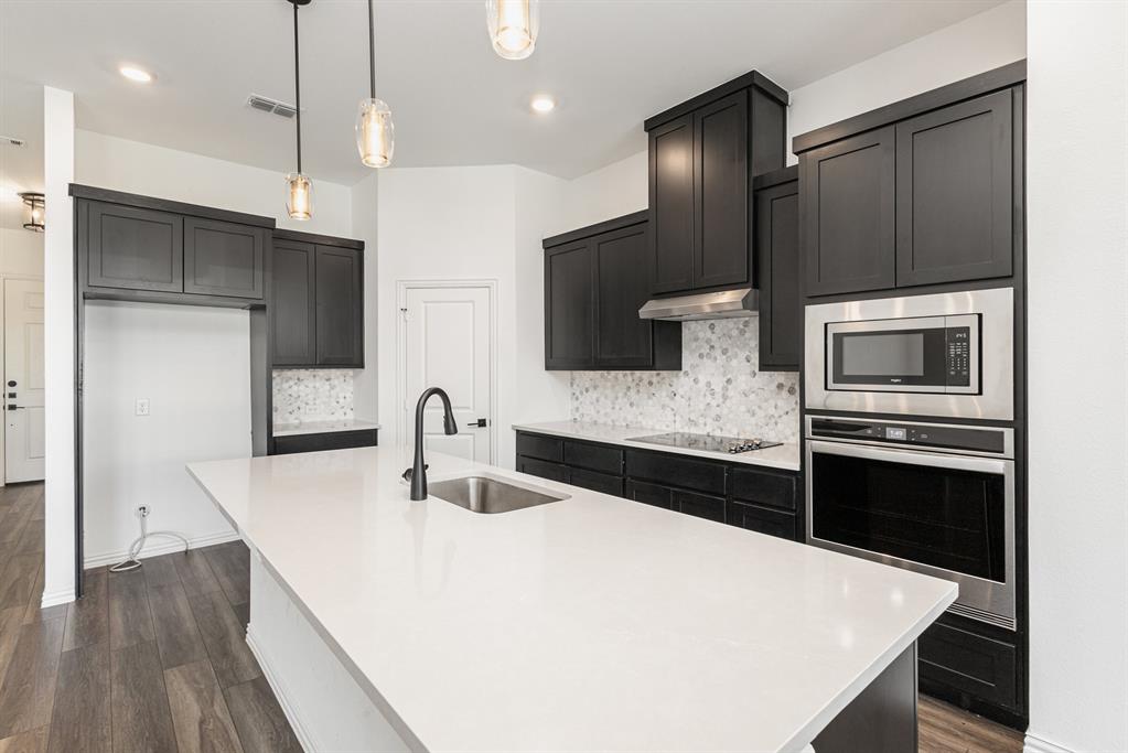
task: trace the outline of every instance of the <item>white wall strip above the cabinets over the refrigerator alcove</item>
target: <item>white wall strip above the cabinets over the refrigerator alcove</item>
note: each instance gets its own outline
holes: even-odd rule
[[[272,216],[277,227],[290,230],[345,237],[352,232],[349,188],[316,175],[314,216],[298,222],[287,215],[284,161],[277,171],[264,170],[82,130],[76,132],[74,143],[74,176],[81,184]]]

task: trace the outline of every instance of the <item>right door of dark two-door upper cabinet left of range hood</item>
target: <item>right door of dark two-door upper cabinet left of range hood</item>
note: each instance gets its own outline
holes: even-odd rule
[[[596,366],[653,364],[653,325],[638,318],[650,296],[646,225],[592,239],[596,267]]]

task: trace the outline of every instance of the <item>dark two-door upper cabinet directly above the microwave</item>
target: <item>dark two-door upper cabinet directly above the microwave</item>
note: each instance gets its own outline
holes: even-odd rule
[[[805,294],[1012,276],[1025,77],[1019,61],[795,136]]]

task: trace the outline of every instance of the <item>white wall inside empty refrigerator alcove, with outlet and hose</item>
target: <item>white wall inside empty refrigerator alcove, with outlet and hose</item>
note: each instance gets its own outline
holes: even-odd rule
[[[235,538],[184,464],[250,455],[248,312],[90,301],[86,317],[87,566],[121,559],[142,504],[150,530],[195,546]],[[150,415],[135,415],[138,398]],[[177,547],[151,544],[146,551]]]

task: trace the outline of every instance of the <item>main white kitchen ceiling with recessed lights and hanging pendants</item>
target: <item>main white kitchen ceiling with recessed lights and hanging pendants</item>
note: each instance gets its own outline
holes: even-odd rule
[[[645,148],[642,121],[751,69],[794,89],[999,0],[545,0],[532,57],[491,50],[482,0],[378,0],[377,94],[397,167],[519,163],[574,177]],[[363,0],[301,10],[303,168],[351,185],[368,91]],[[79,127],[293,168],[293,123],[247,108],[292,101],[285,0],[2,0],[0,70],[77,95]],[[153,71],[130,83],[117,67]],[[529,112],[555,96],[548,116]]]

